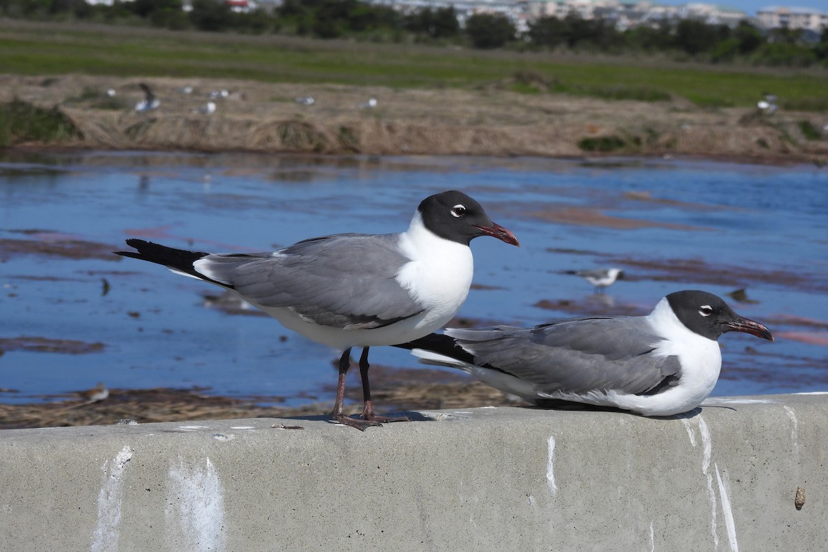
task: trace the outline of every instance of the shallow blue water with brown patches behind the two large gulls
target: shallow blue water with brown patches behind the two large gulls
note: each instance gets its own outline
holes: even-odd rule
[[[825,169],[94,152],[0,162],[0,339],[12,339],[2,342],[0,401],[96,382],[332,401],[338,352],[275,320],[206,306],[218,288],[108,252],[129,237],[243,252],[325,233],[397,232],[422,198],[453,188],[522,243],[473,242],[476,286],[460,311],[473,324],[645,314],[674,290],[745,288],[749,302],[725,299],[777,341],[725,335],[714,394],[828,390]],[[599,266],[628,277],[599,296],[563,274]],[[21,350],[21,337],[103,349]],[[371,357],[417,366],[395,348],[373,348]]]

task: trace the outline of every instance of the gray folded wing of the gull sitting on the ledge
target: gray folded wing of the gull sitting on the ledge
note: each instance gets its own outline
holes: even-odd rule
[[[541,392],[653,393],[675,385],[676,357],[653,354],[661,340],[643,317],[566,319],[532,329],[448,329],[474,363],[531,382]]]

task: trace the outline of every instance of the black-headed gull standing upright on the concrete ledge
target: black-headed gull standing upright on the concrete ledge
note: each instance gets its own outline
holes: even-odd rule
[[[443,327],[469,293],[474,263],[469,242],[492,236],[518,245],[468,195],[451,190],[423,199],[407,231],[310,238],[276,252],[211,255],[128,239],[118,252],[233,290],[286,328],[343,350],[334,420],[364,430],[375,415],[368,385],[368,348],[421,338]],[[343,414],[345,374],[362,347],[363,415]]]

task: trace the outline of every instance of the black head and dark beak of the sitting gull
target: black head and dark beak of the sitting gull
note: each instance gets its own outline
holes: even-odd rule
[[[725,332],[736,331],[773,341],[773,334],[763,324],[742,318],[712,293],[676,291],[667,295],[667,302],[681,324],[705,338],[718,339]]]

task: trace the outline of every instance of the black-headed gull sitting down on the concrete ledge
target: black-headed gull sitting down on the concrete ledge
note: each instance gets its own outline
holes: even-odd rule
[[[686,290],[667,295],[647,316],[446,329],[397,347],[538,406],[565,401],[667,416],[710,396],[721,369],[718,338],[729,331],[773,341],[770,330],[720,297]]]

